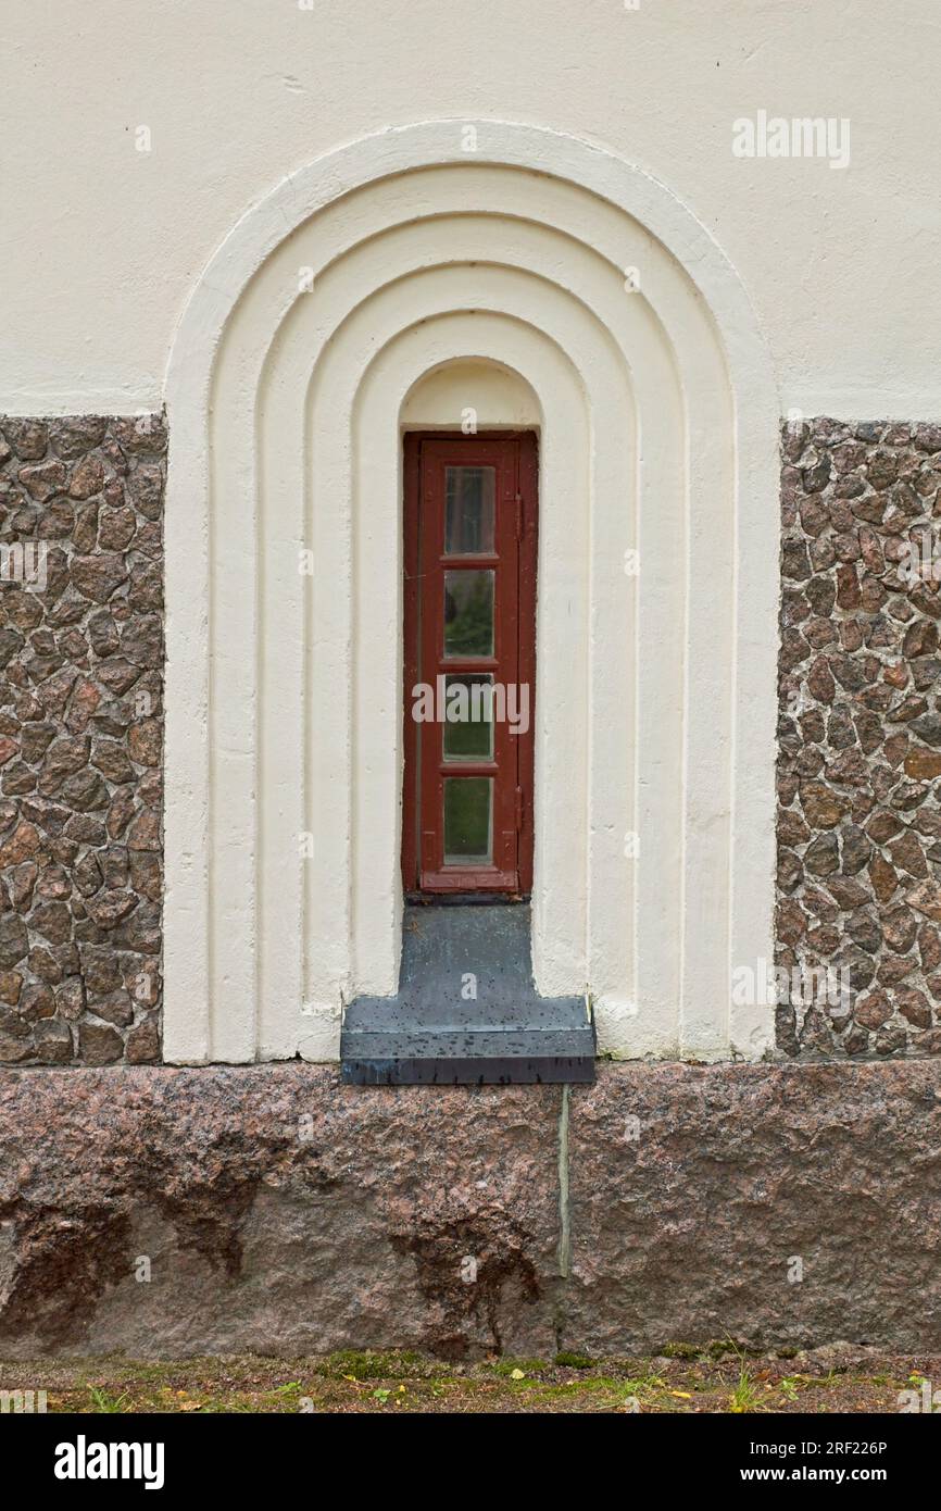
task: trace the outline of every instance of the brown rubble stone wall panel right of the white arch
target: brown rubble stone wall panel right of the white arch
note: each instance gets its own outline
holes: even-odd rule
[[[794,423],[784,458],[776,959],[850,993],[782,1005],[778,1047],[935,1055],[941,595],[909,545],[941,523],[941,428]]]

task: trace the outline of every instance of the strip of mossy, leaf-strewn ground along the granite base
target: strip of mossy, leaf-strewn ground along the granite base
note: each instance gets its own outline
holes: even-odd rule
[[[748,1355],[733,1343],[699,1352],[666,1345],[648,1358],[495,1358],[446,1364],[415,1352],[322,1358],[0,1361],[0,1389],[45,1392],[48,1413],[219,1411],[597,1414],[767,1414],[914,1411],[941,1358],[884,1355],[846,1345]],[[930,1398],[930,1389],[929,1389]],[[33,1396],[35,1405],[36,1396]]]

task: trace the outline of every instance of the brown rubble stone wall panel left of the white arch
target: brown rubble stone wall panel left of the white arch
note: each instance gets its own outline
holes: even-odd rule
[[[160,1053],[160,416],[0,417],[0,1062]]]

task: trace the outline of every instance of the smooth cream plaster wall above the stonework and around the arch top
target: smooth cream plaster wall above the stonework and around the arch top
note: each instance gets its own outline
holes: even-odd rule
[[[939,63],[936,0],[5,0],[0,408],[159,405],[249,204],[390,124],[489,116],[678,193],[739,269],[784,409],[938,419]],[[758,109],[849,118],[849,168],[736,159]]]

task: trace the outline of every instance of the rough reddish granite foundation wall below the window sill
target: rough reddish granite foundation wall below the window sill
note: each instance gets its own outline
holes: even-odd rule
[[[930,1059],[11,1070],[0,1357],[936,1349],[939,1144]]]

